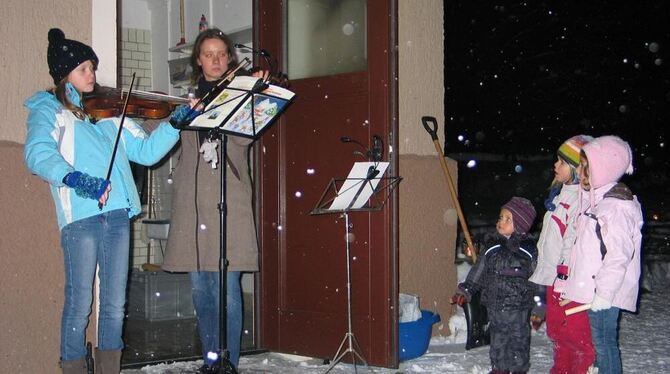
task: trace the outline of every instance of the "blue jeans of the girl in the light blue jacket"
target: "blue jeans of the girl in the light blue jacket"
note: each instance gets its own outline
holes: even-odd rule
[[[100,266],[98,349],[123,349],[130,224],[128,211],[113,210],[72,222],[61,230],[65,302],[61,320],[63,361],[86,356],[86,326],[93,303],[93,280]]]

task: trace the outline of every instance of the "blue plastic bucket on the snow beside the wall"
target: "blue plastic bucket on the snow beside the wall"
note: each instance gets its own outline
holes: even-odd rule
[[[433,325],[440,322],[440,315],[429,310],[421,310],[421,318],[414,322],[399,323],[400,361],[417,358],[428,350]]]

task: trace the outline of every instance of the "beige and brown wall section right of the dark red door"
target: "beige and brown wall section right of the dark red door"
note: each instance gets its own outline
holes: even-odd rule
[[[440,0],[398,1],[400,153],[400,292],[417,295],[422,309],[440,314],[433,335],[449,335],[456,287],[457,214],[432,139],[421,124],[444,126],[444,6]],[[439,130],[440,144],[444,144]],[[457,177],[456,163],[448,160]]]

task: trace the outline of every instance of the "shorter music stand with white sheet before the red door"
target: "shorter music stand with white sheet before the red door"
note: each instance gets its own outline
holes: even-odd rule
[[[330,372],[349,353],[354,365],[354,372],[358,373],[356,357],[370,371],[367,361],[363,357],[362,349],[352,326],[351,313],[351,251],[350,251],[350,212],[379,211],[384,208],[386,201],[402,178],[381,177],[388,168],[388,162],[357,162],[352,167],[346,179],[331,179],[326,186],[311,215],[335,214],[344,216],[345,250],[347,260],[347,332],[340,343],[333,360],[325,373]],[[343,350],[346,343],[346,349]]]

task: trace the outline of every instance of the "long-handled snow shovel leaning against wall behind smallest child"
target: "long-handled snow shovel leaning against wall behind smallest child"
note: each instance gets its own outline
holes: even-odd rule
[[[456,196],[456,186],[454,186],[454,181],[451,178],[451,174],[449,173],[449,168],[447,168],[447,161],[444,159],[442,146],[440,145],[440,140],[437,137],[437,120],[435,117],[423,116],[421,117],[421,122],[423,123],[423,127],[426,129],[426,131],[428,131],[431,139],[433,139],[435,150],[437,151],[437,155],[439,156],[438,158],[440,159],[440,165],[442,165],[444,176],[447,179],[451,200],[456,207],[458,222],[461,224],[461,229],[463,230],[463,236],[465,237],[466,245],[468,248],[470,248],[472,262],[477,262],[477,248],[475,248],[475,246],[472,244],[472,237],[470,236],[470,231],[468,230],[468,224],[465,222],[463,210],[461,210],[461,204],[459,203],[458,197]],[[488,315],[486,308],[479,302],[479,296],[479,292],[475,295],[472,295],[470,302],[462,305],[463,312],[465,313],[465,322],[468,325],[468,339],[465,343],[466,350],[489,344]]]

